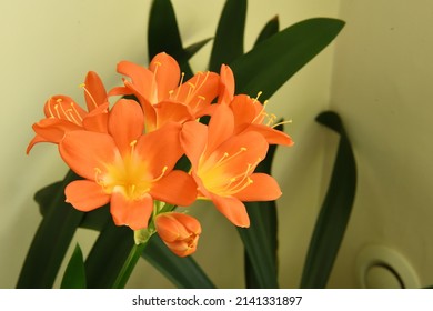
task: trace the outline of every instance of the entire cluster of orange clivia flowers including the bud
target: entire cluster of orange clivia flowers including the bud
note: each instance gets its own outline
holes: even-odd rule
[[[87,74],[87,111],[70,97],[53,96],[46,118],[33,124],[27,152],[38,142],[57,143],[64,162],[82,177],[64,190],[73,208],[88,212],[110,203],[117,225],[158,232],[184,257],[195,251],[201,225],[165,204],[210,200],[233,224],[246,228],[243,202],[281,195],[272,177],[254,170],[269,144],[291,146],[292,139],[274,129],[258,98],[234,94],[228,66],[219,74],[198,72],[183,81],[178,62],[159,53],[149,68],[121,61],[117,70],[123,86],[110,91],[95,72]],[[121,99],[110,107],[114,96]],[[200,122],[204,116],[208,124]],[[188,171],[175,169],[183,156]]]

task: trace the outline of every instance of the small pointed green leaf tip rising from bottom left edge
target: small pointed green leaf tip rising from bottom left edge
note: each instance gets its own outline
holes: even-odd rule
[[[85,289],[84,261],[79,244],[75,245],[61,281],[61,289]]]

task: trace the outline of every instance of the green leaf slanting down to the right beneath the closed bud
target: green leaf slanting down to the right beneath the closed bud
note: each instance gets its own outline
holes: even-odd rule
[[[167,248],[158,234],[152,235],[142,257],[178,288],[215,288],[192,257],[180,258],[175,255]]]

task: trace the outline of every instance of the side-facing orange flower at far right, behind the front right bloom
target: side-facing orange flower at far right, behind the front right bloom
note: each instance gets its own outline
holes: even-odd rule
[[[219,103],[231,108],[234,116],[234,133],[255,131],[261,133],[270,144],[292,146],[293,140],[286,133],[275,130],[275,116],[265,111],[258,99],[246,94],[234,96],[234,77],[229,66],[221,66]]]

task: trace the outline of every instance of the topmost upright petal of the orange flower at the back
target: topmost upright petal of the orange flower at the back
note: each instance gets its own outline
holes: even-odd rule
[[[157,54],[149,64],[157,81],[158,102],[168,99],[170,91],[179,83],[180,68],[175,59],[162,52]],[[155,102],[153,102],[155,103]]]

